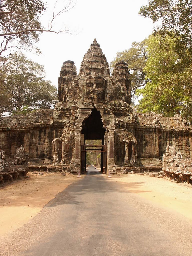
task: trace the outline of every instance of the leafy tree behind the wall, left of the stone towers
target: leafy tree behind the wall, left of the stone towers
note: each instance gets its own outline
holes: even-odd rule
[[[55,105],[57,90],[44,79],[44,67],[15,53],[1,62],[1,112],[21,114]]]

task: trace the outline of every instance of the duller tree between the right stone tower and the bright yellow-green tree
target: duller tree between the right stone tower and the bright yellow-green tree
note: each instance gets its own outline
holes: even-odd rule
[[[148,59],[147,48],[149,40],[150,37],[142,42],[133,42],[132,47],[129,50],[117,52],[115,59],[110,63],[112,69],[118,61],[123,60],[127,63],[131,78],[132,102],[137,98],[135,95],[136,89],[145,86],[147,83],[145,79],[146,73],[143,69]]]

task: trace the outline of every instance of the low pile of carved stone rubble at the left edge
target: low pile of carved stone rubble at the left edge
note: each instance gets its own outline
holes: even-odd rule
[[[24,147],[17,148],[14,158],[6,158],[5,151],[0,150],[0,184],[26,177],[29,171],[29,155]]]

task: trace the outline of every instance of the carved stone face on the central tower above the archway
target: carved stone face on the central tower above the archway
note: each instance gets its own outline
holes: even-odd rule
[[[88,78],[85,90],[86,99],[105,99],[105,80],[103,78]]]

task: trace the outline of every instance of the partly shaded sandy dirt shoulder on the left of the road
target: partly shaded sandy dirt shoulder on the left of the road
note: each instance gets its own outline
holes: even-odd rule
[[[73,182],[76,175],[28,173],[29,179],[14,181],[0,187],[0,235],[8,234],[35,217],[42,207]]]

